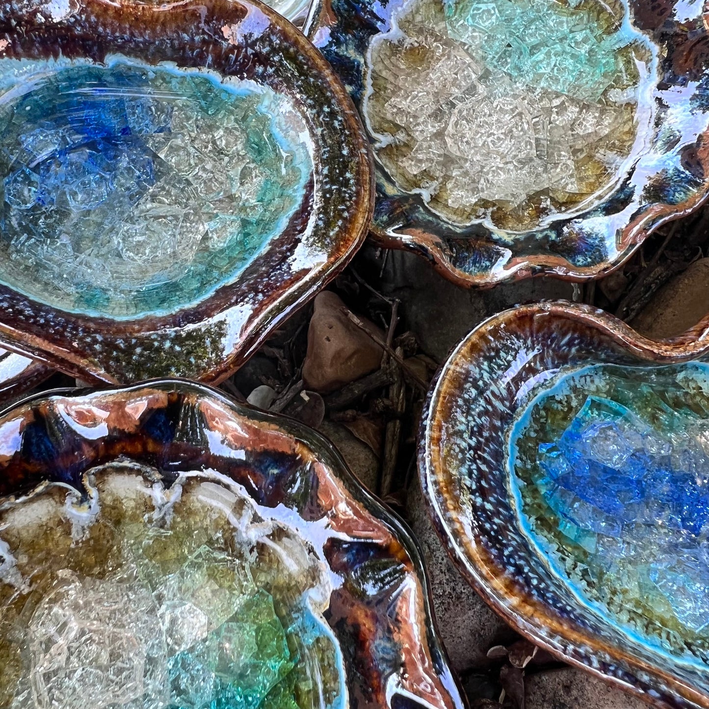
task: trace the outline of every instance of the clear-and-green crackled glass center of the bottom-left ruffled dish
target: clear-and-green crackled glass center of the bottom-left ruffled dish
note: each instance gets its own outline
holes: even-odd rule
[[[218,476],[115,464],[0,518],[0,705],[313,709],[346,699],[330,585]]]

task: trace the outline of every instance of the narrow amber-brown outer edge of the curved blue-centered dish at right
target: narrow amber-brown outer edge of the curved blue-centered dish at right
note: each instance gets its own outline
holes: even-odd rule
[[[667,703],[649,696],[642,687],[605,674],[576,657],[564,654],[544,637],[540,637],[539,633],[535,632],[535,628],[544,627],[547,632],[564,638],[571,645],[588,648],[589,654],[596,653],[621,661],[634,673],[659,679],[671,692],[691,706],[709,708],[709,696],[706,694],[700,693],[659,666],[624,652],[617,645],[609,644],[583,632],[575,623],[570,623],[561,615],[550,612],[544,603],[531,598],[525,592],[525,588],[511,579],[506,569],[491,557],[484,545],[479,544],[476,539],[469,538],[467,531],[457,519],[457,498],[452,497],[451,476],[442,460],[440,445],[441,422],[450,420],[451,403],[459,398],[458,386],[461,377],[456,371],[456,363],[470,362],[476,358],[484,350],[487,333],[500,328],[501,325],[506,325],[508,330],[513,330],[515,327],[513,320],[515,316],[520,315],[575,320],[596,330],[599,335],[609,337],[636,357],[657,364],[681,364],[709,354],[709,316],[705,316],[697,325],[678,337],[657,341],[636,333],[622,320],[605,311],[567,301],[532,303],[492,316],[454,347],[437,374],[437,379],[428,394],[420,424],[418,457],[423,497],[443,546],[469,584],[508,625],[560,661],[590,672],[607,683],[620,686],[650,705],[663,708],[668,706]]]

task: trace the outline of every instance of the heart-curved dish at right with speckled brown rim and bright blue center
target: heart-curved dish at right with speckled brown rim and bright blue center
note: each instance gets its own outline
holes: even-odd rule
[[[709,707],[707,323],[663,342],[587,306],[494,316],[425,409],[420,476],[508,623],[666,707]]]

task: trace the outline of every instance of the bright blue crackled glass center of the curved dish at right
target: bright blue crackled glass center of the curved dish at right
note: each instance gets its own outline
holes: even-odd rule
[[[593,365],[512,435],[523,526],[615,623],[709,660],[709,365]]]

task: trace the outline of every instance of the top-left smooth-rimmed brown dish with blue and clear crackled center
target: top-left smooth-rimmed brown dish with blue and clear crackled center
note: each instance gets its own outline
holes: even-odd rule
[[[357,113],[256,1],[0,10],[0,339],[86,380],[223,379],[367,233]]]

